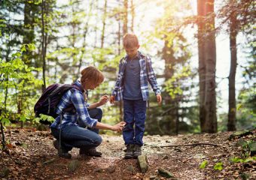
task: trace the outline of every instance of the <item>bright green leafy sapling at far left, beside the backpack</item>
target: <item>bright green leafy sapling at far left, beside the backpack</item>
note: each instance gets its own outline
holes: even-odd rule
[[[41,68],[26,65],[23,62],[22,53],[34,49],[34,44],[23,44],[20,51],[11,55],[9,61],[2,59],[0,64],[0,74],[2,74],[0,89],[3,89],[0,90],[0,95],[3,98],[0,100],[5,100],[5,104],[0,106],[3,110],[0,117],[5,125],[10,124],[11,114],[16,110],[18,114],[14,115],[14,119],[19,119],[19,121],[25,122],[33,116],[29,107],[38,98],[35,87],[42,85],[42,81],[35,78],[35,72],[41,71]],[[8,94],[6,94],[7,92]]]

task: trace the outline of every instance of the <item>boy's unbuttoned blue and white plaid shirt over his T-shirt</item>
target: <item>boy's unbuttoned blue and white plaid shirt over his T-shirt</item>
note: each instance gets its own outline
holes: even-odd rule
[[[115,96],[116,101],[123,100],[123,76],[124,76],[127,60],[128,60],[128,55],[121,58],[119,63],[117,81],[115,83],[114,90],[112,92],[112,95]],[[139,52],[139,65],[141,68],[140,83],[141,83],[142,98],[143,98],[143,101],[148,101],[148,98],[149,98],[148,82],[151,84],[151,87],[155,95],[160,94],[161,92],[159,87],[157,86],[157,78],[152,68],[151,58],[149,58],[148,56],[142,55],[142,53]]]

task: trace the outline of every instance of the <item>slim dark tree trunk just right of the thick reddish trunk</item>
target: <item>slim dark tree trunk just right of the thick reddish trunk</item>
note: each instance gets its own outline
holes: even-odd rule
[[[230,75],[228,78],[229,94],[228,94],[228,121],[227,130],[236,130],[236,14],[233,12],[230,17]]]

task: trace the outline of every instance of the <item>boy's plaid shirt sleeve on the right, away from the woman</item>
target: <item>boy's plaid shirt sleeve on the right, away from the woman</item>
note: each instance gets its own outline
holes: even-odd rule
[[[151,58],[147,56],[146,61],[148,82],[151,84],[155,95],[160,95],[161,92],[159,86],[157,85],[157,77],[156,74],[154,74],[154,70],[152,68]]]

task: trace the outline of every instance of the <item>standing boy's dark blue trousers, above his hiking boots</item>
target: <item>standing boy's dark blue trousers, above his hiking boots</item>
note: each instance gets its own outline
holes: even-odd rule
[[[123,128],[123,140],[126,145],[143,145],[146,110],[147,101],[123,100],[123,119],[126,122]],[[133,127],[134,124],[135,128]]]

